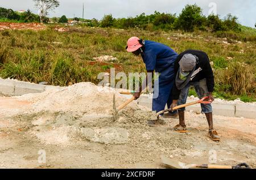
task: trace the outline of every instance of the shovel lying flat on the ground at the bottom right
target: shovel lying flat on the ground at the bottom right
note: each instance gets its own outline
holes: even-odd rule
[[[229,165],[210,165],[210,164],[188,164],[171,160],[165,156],[161,156],[162,163],[171,169],[191,169],[191,168],[207,168],[207,169],[251,169],[246,163],[241,163],[236,166]]]

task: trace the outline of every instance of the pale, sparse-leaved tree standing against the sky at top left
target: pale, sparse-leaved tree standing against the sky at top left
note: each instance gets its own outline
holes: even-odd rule
[[[53,11],[56,7],[60,6],[57,0],[33,0],[36,8],[39,10],[40,22],[43,23],[43,17]]]

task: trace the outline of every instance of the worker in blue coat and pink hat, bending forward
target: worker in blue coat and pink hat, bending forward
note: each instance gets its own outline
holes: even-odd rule
[[[159,78],[154,83],[154,95],[152,100],[152,110],[160,112],[164,110],[166,104],[170,108],[172,104],[171,90],[175,80],[175,61],[178,54],[170,47],[154,41],[142,40],[138,37],[131,37],[127,41],[127,52],[142,56],[146,65],[147,73],[159,73]],[[148,84],[148,82],[146,83]],[[135,100],[141,95],[134,93]],[[168,112],[164,117],[177,118],[177,112]]]

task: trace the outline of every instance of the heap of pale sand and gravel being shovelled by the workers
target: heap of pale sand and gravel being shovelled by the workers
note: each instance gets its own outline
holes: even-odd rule
[[[113,94],[116,104],[126,99],[109,87],[78,83],[62,90],[45,91],[16,97],[32,102],[22,121],[31,124],[30,134],[43,143],[69,145],[75,140],[104,144],[125,144],[129,134],[146,125],[153,113],[132,102],[113,118]],[[134,134],[134,133],[133,133]]]

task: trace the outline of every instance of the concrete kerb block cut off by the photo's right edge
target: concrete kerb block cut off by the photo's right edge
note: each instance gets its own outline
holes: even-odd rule
[[[256,106],[237,104],[235,116],[256,119]]]

